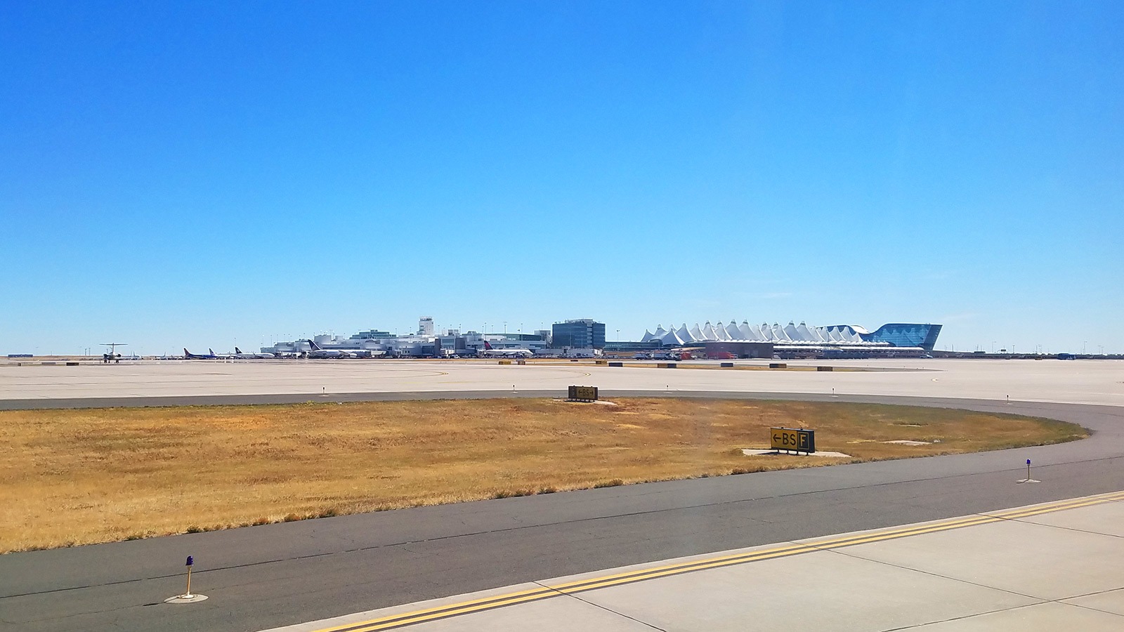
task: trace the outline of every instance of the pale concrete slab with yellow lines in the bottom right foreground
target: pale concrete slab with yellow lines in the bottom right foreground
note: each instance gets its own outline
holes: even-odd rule
[[[525,583],[270,632],[1124,629],[1124,491]]]

